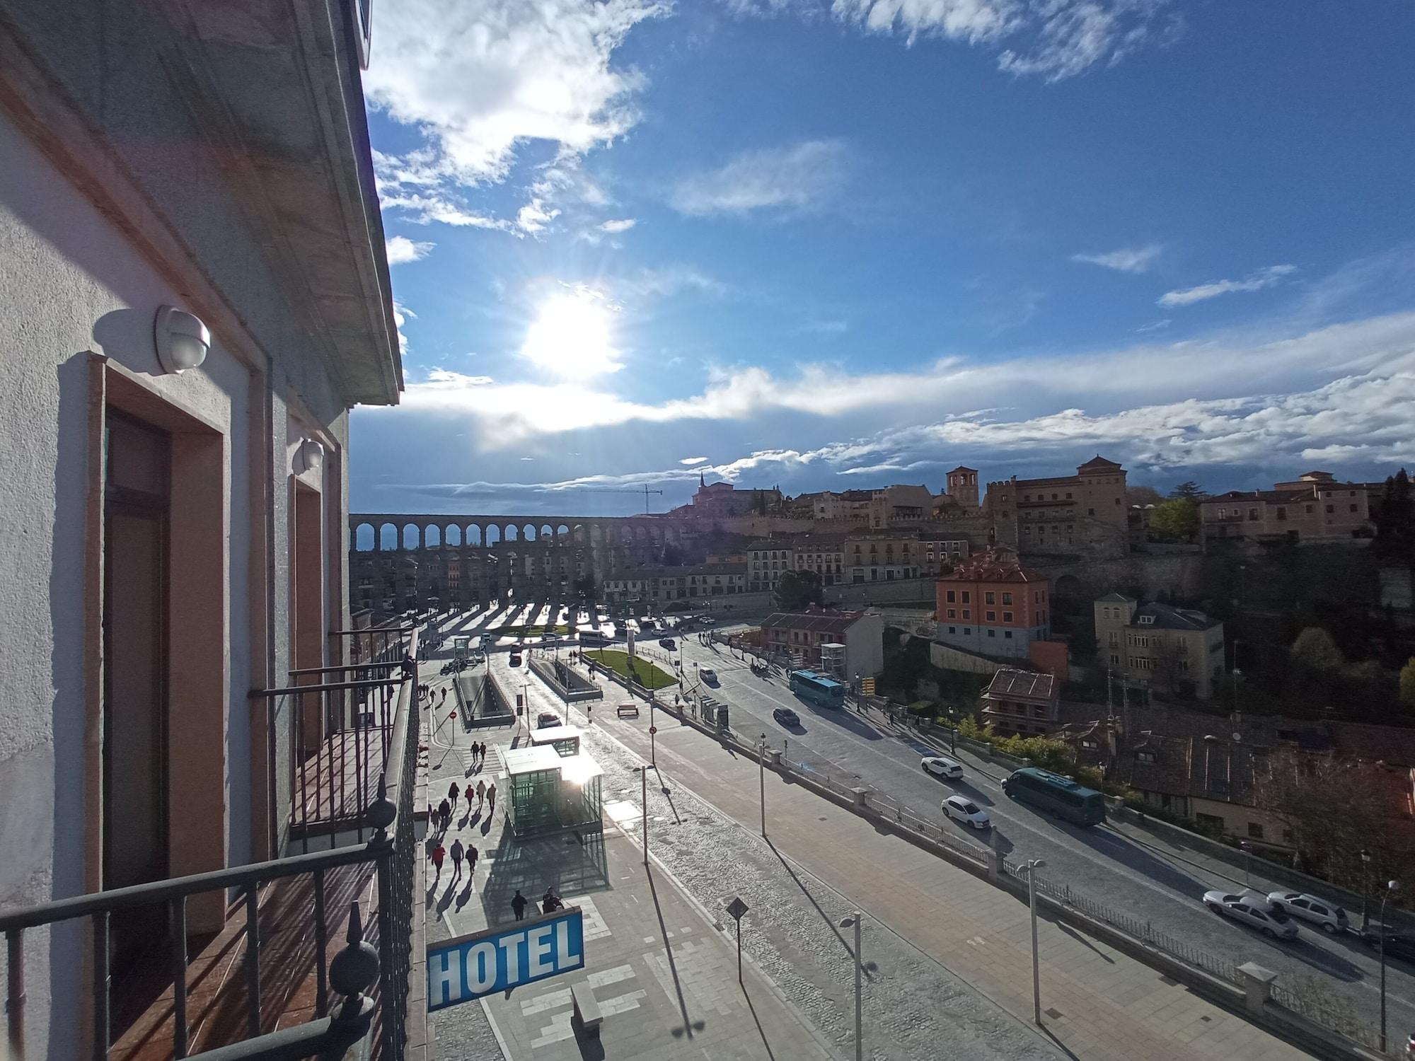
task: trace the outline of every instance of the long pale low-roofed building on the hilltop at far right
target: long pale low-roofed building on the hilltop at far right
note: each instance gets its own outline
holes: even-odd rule
[[[1370,484],[1339,482],[1329,471],[1204,498],[1199,522],[1206,542],[1363,542],[1375,533]]]

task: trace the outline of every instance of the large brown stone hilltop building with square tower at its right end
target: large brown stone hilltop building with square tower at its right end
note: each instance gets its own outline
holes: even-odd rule
[[[988,484],[983,512],[996,545],[1029,553],[1124,556],[1129,550],[1125,468],[1097,454],[1058,478]]]

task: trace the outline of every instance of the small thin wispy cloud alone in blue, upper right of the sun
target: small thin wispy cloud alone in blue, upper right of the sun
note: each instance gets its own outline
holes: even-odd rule
[[[685,177],[674,188],[674,209],[691,216],[777,209],[824,209],[848,178],[841,140],[805,140],[788,147],[747,151],[716,170]]]

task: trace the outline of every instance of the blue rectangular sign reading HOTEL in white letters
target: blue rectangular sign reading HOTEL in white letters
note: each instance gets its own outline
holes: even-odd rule
[[[427,946],[427,1009],[521,987],[584,968],[584,920],[566,907]]]

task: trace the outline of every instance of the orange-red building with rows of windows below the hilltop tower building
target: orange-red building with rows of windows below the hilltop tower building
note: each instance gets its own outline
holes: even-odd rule
[[[938,641],[989,656],[1029,658],[1051,637],[1051,580],[1010,549],[988,549],[935,586]]]

